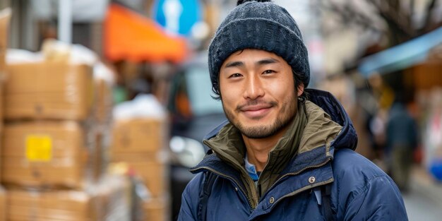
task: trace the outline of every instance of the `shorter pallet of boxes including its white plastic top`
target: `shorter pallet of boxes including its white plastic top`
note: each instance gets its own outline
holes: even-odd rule
[[[143,180],[154,197],[167,190],[167,121],[153,95],[138,95],[114,108],[112,162],[125,162]]]

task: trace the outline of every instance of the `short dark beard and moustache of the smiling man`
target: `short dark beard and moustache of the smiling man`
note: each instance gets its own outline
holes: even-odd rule
[[[272,107],[278,107],[281,105],[280,111],[277,113],[276,119],[270,124],[262,124],[257,126],[247,126],[241,123],[237,119],[237,115],[239,114],[242,106],[253,105],[257,103],[261,103],[259,101],[251,101],[244,105],[241,105],[234,109],[234,111],[227,110],[224,105],[223,109],[226,114],[227,119],[232,123],[244,136],[253,139],[259,138],[267,138],[269,136],[275,135],[275,133],[285,129],[286,126],[290,124],[295,114],[297,113],[297,99],[294,95],[291,97],[287,97],[288,99],[285,102],[277,103],[277,102],[267,102],[271,104]]]

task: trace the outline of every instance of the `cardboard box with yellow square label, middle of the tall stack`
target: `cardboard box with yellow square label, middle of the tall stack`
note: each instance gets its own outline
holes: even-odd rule
[[[4,184],[78,189],[92,167],[86,129],[77,121],[6,124],[1,166]]]

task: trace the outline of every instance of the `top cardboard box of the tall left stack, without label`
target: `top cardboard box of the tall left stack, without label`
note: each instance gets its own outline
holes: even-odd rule
[[[41,62],[11,64],[6,71],[6,119],[84,120],[92,114],[90,66]]]

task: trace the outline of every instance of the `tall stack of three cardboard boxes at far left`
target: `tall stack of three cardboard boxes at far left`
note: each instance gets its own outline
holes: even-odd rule
[[[92,70],[69,61],[6,67],[7,136],[0,154],[1,181],[8,189],[6,220],[129,220],[128,211],[114,214],[129,210],[129,203],[112,208],[104,201],[128,191],[104,188],[109,181],[103,181],[102,137],[110,132],[97,119],[100,101]],[[109,116],[111,109],[102,108],[106,111]]]

